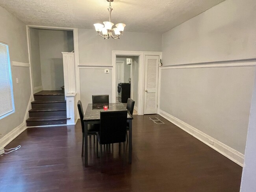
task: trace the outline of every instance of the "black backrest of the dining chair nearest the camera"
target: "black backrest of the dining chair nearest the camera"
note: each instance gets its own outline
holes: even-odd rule
[[[126,140],[127,110],[100,111],[100,144]]]

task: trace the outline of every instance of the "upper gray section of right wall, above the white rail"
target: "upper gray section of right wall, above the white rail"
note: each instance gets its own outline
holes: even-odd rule
[[[164,33],[163,64],[256,58],[255,10],[255,0],[226,0]]]

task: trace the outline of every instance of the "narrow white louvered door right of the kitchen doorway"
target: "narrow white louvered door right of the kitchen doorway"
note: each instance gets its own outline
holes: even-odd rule
[[[144,114],[157,113],[159,56],[145,57]]]

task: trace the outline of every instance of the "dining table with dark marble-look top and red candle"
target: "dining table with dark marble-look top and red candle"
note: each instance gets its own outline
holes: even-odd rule
[[[84,164],[85,167],[88,166],[88,124],[100,124],[100,111],[104,111],[103,106],[108,105],[108,111],[120,111],[127,110],[123,103],[89,103],[87,109],[83,116],[84,123]],[[133,116],[128,112],[127,113],[127,122],[129,124],[129,139],[128,139],[128,162],[132,164],[132,120]],[[97,142],[97,141],[96,141]]]

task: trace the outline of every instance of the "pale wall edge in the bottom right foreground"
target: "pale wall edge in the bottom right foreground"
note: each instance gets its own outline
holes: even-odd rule
[[[256,191],[256,78],[250,108],[249,127],[245,148],[245,163],[241,181],[241,192]]]

